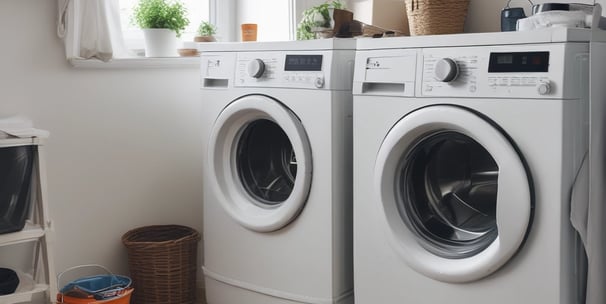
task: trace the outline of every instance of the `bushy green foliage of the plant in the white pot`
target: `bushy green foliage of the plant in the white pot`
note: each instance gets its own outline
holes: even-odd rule
[[[177,37],[189,25],[187,9],[178,0],[140,0],[133,11],[133,21],[140,28],[166,28]]]

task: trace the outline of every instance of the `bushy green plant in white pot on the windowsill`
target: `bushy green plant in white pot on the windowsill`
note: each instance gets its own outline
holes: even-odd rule
[[[143,30],[146,57],[177,56],[177,37],[189,24],[187,9],[178,0],[139,0],[134,22]]]

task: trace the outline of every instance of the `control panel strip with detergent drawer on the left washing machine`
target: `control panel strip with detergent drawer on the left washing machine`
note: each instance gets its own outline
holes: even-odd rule
[[[202,88],[286,88],[349,91],[351,50],[203,52]]]

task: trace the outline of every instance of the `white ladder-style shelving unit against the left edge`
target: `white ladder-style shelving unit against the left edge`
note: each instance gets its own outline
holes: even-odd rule
[[[57,282],[54,267],[54,231],[48,216],[46,162],[44,140],[39,138],[0,139],[0,149],[15,146],[37,147],[32,181],[32,212],[25,228],[19,232],[0,234],[0,247],[33,242],[32,267],[15,269],[19,276],[19,287],[13,294],[0,296],[0,304],[31,303],[37,294],[44,294],[48,303],[55,303]],[[10,259],[2,260],[10,265]]]

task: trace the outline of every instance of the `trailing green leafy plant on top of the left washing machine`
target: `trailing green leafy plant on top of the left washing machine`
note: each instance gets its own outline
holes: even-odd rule
[[[310,7],[303,11],[301,22],[297,26],[297,40],[315,39],[314,28],[330,28],[331,9],[343,9],[345,3],[341,0],[326,1],[317,6]]]

